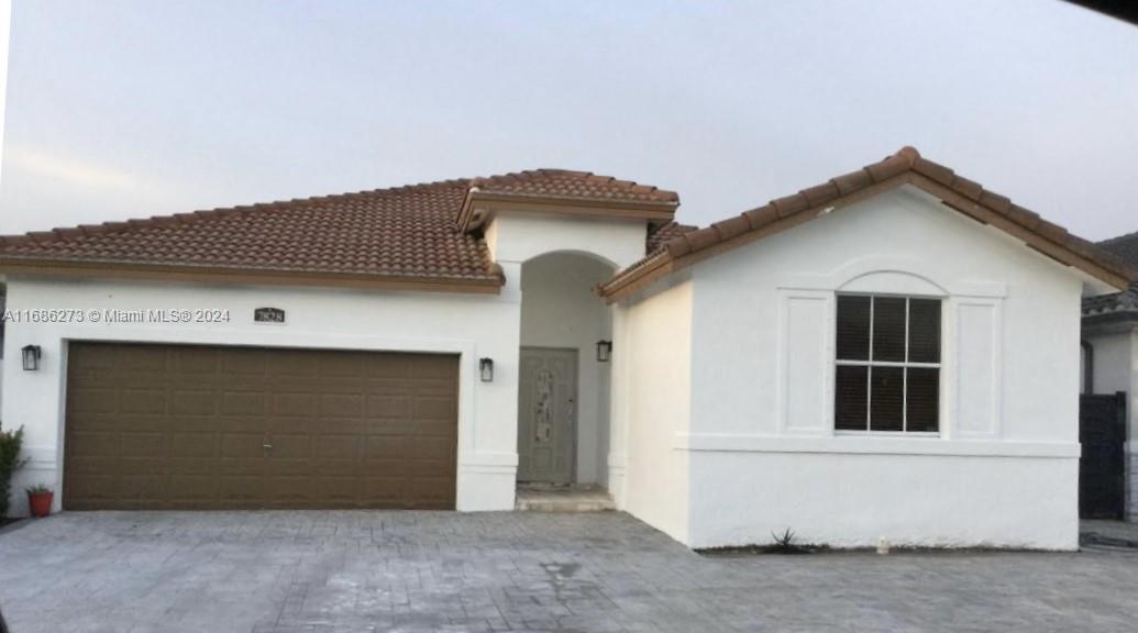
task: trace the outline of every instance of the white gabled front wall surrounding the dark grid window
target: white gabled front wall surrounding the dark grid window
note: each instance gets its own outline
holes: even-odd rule
[[[1079,275],[908,188],[691,275],[685,542],[1078,545]],[[834,434],[838,290],[943,298],[939,438]]]

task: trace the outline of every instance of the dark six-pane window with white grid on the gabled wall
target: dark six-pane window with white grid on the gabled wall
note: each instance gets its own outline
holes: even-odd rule
[[[834,430],[935,433],[940,301],[838,295]]]

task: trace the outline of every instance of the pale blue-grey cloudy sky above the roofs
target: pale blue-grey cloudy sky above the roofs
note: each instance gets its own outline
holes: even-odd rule
[[[0,233],[536,167],[707,224],[915,145],[1138,231],[1138,27],[1058,0],[16,0]]]

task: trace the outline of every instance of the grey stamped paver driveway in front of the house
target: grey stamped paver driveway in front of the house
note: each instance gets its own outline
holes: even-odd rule
[[[1138,553],[708,558],[620,513],[77,513],[0,533],[13,633],[1133,631]]]

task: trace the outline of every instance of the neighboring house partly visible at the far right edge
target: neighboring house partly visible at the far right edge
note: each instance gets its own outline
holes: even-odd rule
[[[1138,233],[1099,242],[1102,250],[1138,267]],[[1083,392],[1127,394],[1124,514],[1138,520],[1138,284],[1082,303]]]

